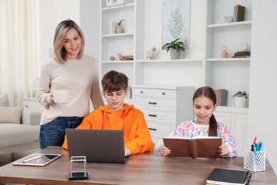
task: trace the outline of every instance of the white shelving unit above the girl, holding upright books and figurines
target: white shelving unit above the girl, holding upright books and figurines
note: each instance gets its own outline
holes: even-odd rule
[[[239,90],[249,93],[251,58],[232,58],[241,51],[241,43],[251,45],[252,1],[207,0],[207,31],[205,33],[205,84],[214,89],[228,90],[228,107],[234,107],[232,95]],[[233,16],[233,7],[241,4],[246,7],[241,22],[220,23],[220,16]],[[229,58],[221,58],[221,48],[227,46]]]

